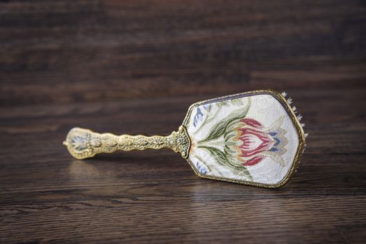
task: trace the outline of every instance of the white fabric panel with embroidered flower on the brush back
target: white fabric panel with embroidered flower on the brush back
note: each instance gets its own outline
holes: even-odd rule
[[[186,123],[199,173],[276,184],[291,169],[299,138],[282,104],[267,94],[200,105]]]

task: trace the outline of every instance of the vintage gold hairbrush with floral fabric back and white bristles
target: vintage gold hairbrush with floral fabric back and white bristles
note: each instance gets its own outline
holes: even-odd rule
[[[305,148],[303,124],[286,93],[250,91],[197,102],[168,136],[98,134],[73,128],[63,142],[77,159],[98,153],[171,148],[203,178],[277,188]]]

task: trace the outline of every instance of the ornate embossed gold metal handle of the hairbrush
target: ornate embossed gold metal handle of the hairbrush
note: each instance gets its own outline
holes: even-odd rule
[[[115,151],[145,150],[148,148],[171,148],[176,153],[181,153],[183,158],[188,158],[190,137],[183,125],[178,131],[171,132],[168,136],[154,135],[113,135],[110,133],[99,134],[91,130],[73,128],[68,132],[66,141],[63,142],[74,158],[91,158],[98,153],[113,153]]]

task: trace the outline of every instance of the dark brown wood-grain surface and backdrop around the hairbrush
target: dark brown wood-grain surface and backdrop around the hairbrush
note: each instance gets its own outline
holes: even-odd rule
[[[0,243],[365,243],[363,1],[1,1]],[[75,160],[70,128],[167,135],[188,106],[288,91],[310,132],[268,190],[168,149]]]

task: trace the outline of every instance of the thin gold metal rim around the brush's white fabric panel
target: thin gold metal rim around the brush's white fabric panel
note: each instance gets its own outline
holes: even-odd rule
[[[244,93],[237,93],[237,94],[234,94],[234,95],[223,96],[223,97],[220,97],[220,98],[213,98],[213,99],[204,100],[204,101],[201,101],[201,102],[195,102],[194,104],[190,105],[190,107],[188,109],[188,112],[185,116],[185,119],[183,120],[183,126],[184,127],[187,126],[187,123],[190,119],[190,115],[192,114],[192,110],[195,109],[195,107],[205,105],[205,104],[208,104],[208,103],[220,102],[222,100],[229,100],[229,99],[234,99],[234,98],[242,98],[242,97],[245,97],[245,96],[254,96],[254,95],[262,95],[262,94],[271,95],[274,98],[276,98],[282,104],[284,109],[286,109],[287,113],[289,114],[291,120],[293,121],[293,125],[295,126],[296,131],[298,132],[298,139],[299,139],[298,148],[297,148],[297,151],[296,151],[295,158],[293,159],[293,163],[291,165],[291,168],[287,172],[286,176],[284,176],[282,181],[280,181],[279,183],[275,183],[275,184],[256,183],[256,182],[252,182],[252,181],[240,181],[240,180],[234,180],[234,179],[231,179],[231,178],[224,178],[224,177],[218,177],[218,176],[207,176],[207,175],[201,174],[199,171],[197,171],[197,169],[194,166],[193,162],[191,162],[190,159],[187,158],[187,161],[189,162],[190,167],[192,167],[193,171],[195,172],[195,174],[197,174],[197,176],[202,177],[202,178],[209,178],[209,179],[212,179],[212,180],[227,181],[227,182],[231,182],[231,183],[239,183],[239,184],[243,184],[243,185],[252,185],[252,186],[257,186],[257,187],[262,187],[262,188],[280,188],[282,185],[286,184],[289,181],[292,174],[298,168],[298,164],[300,162],[300,157],[301,157],[301,155],[304,151],[304,148],[305,148],[305,133],[304,133],[304,130],[303,130],[302,126],[300,125],[300,122],[296,118],[295,113],[292,111],[291,106],[289,105],[289,102],[287,102],[286,98],[284,98],[284,96],[282,96],[281,93],[278,93],[277,91],[274,91],[272,89],[264,89],[264,90],[257,90],[257,91],[247,91],[247,92],[244,92]]]

